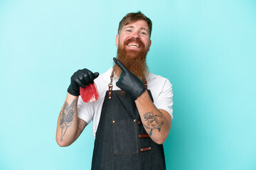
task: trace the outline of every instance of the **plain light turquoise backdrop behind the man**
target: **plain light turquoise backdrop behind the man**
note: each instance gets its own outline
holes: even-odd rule
[[[0,1],[0,169],[90,169],[92,124],[55,142],[77,69],[109,69],[129,12],[153,21],[147,63],[174,90],[167,169],[256,169],[256,1]]]

